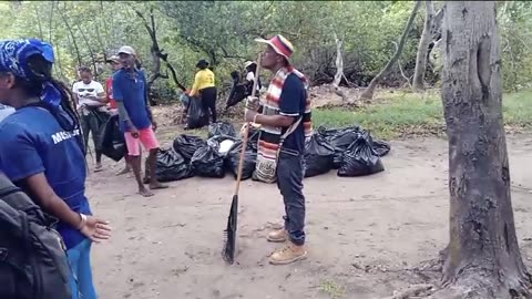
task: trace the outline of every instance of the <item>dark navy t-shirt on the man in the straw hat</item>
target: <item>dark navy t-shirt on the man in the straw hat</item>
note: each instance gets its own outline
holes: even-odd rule
[[[307,91],[303,81],[296,74],[289,74],[285,79],[283,91],[279,99],[279,114],[294,117],[294,122],[297,122],[299,117],[305,114],[307,104]],[[288,127],[283,127],[282,134]],[[305,127],[303,120],[299,122],[297,128],[286,137],[283,142],[283,147],[297,151],[300,154],[305,152]]]

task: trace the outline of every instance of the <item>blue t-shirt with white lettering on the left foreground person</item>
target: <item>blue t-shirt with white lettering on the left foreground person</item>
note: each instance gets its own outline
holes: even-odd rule
[[[21,179],[44,173],[53,192],[72,210],[91,215],[85,197],[85,159],[76,140],[79,134],[79,130],[64,132],[43,107],[20,109],[0,123],[0,171],[22,188]],[[29,190],[24,192],[31,196]],[[65,223],[58,224],[58,231],[68,249],[85,239]]]

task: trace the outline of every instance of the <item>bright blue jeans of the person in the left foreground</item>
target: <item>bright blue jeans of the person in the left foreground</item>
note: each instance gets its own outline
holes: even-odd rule
[[[92,241],[85,239],[78,246],[66,250],[72,269],[70,279],[72,299],[98,299],[94,283],[92,282],[91,245]]]

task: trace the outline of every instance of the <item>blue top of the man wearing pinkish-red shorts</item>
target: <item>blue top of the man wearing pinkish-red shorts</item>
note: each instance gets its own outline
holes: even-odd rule
[[[146,75],[142,70],[129,72],[120,70],[113,74],[113,97],[116,102],[123,102],[130,115],[130,121],[137,130],[147,128],[152,125],[151,115],[146,103]],[[121,124],[124,132],[130,131],[125,124]]]

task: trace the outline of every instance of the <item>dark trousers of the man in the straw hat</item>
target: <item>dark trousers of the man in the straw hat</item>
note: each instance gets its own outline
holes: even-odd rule
[[[303,155],[282,150],[277,162],[277,186],[285,202],[285,229],[295,245],[305,244],[305,196]]]

